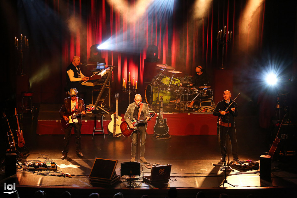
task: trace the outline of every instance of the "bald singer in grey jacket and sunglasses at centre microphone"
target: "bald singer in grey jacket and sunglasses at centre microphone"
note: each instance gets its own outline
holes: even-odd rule
[[[150,120],[149,117],[149,105],[142,103],[142,98],[140,94],[136,94],[134,98],[133,103],[131,103],[125,113],[125,120],[128,123],[130,128],[133,128],[133,124],[130,122],[133,118],[138,120],[142,120],[146,117],[146,120],[139,123],[137,128],[137,131],[134,131],[131,135],[132,137],[132,143],[131,143],[131,161],[135,161],[135,154],[136,154],[136,143],[137,143],[137,136],[138,132],[140,134],[140,160],[144,163],[147,162],[147,160],[144,158],[144,149],[145,149],[145,135],[146,130],[148,127],[148,120]]]

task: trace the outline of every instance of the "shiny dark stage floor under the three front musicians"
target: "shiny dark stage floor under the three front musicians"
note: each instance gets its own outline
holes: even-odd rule
[[[92,139],[92,135],[82,135],[84,157],[79,158],[76,156],[75,139],[72,136],[70,152],[66,160],[61,160],[63,135],[36,135],[36,122],[36,119],[32,122],[30,116],[22,119],[24,139],[29,153],[24,154],[21,163],[52,160],[57,163],[58,168],[57,171],[50,172],[28,172],[17,169],[17,174],[10,178],[16,178],[16,190],[21,192],[34,192],[37,188],[37,190],[45,190],[49,196],[69,190],[74,194],[72,197],[87,197],[85,194],[92,192],[99,192],[102,197],[112,197],[114,192],[120,191],[126,197],[140,197],[142,194],[165,197],[168,188],[176,187],[181,192],[179,195],[183,197],[194,197],[201,190],[206,192],[207,197],[218,197],[222,192],[229,193],[231,197],[246,197],[251,193],[265,192],[261,197],[274,197],[273,195],[278,196],[283,192],[293,195],[297,184],[297,172],[294,165],[296,157],[284,156],[280,157],[279,161],[272,162],[272,181],[260,179],[259,170],[242,171],[234,168],[233,171],[226,173],[228,183],[235,187],[224,184],[227,189],[217,188],[225,178],[224,172],[219,170],[220,166],[213,166],[214,164],[223,165],[220,162],[218,136],[171,136],[170,139],[156,139],[154,135],[149,135],[146,137],[145,158],[151,164],[172,164],[171,177],[167,184],[151,185],[145,182],[135,182],[133,183],[136,186],[133,188],[134,191],[128,191],[131,189],[126,187],[127,182],[117,182],[112,186],[92,186],[88,176],[95,158],[118,160],[115,171],[119,175],[120,163],[130,161],[131,138],[114,138],[110,135],[106,139],[103,136],[96,136]],[[265,140],[266,134],[258,127],[256,117],[239,116],[236,119],[236,126],[239,159],[260,162],[260,156],[269,151],[269,146]],[[23,149],[19,151],[25,153]],[[230,162],[232,159],[230,155]],[[139,159],[138,161],[142,163]],[[142,167],[143,174],[150,175],[151,169],[144,165]],[[70,173],[72,177],[64,178],[61,173]],[[9,181],[8,179],[2,172],[1,184]],[[293,190],[290,187],[293,187]],[[53,188],[55,190],[52,190]],[[276,189],[278,191],[275,191]],[[153,193],[146,190],[160,191]]]

